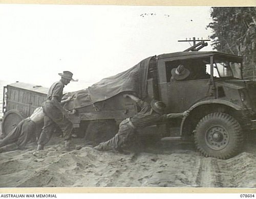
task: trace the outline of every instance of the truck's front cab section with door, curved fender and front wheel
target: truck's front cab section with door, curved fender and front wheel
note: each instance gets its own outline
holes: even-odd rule
[[[193,135],[205,156],[225,159],[236,154],[242,146],[244,130],[253,129],[256,118],[255,83],[243,80],[242,57],[219,52],[179,52],[154,59],[152,68],[157,76],[151,74],[148,79],[150,97],[164,102],[167,113],[189,111],[187,118],[169,121],[162,128],[162,135]],[[190,74],[172,81],[171,71],[178,65]]]

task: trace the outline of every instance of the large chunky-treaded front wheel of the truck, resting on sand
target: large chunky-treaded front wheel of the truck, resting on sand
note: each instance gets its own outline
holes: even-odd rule
[[[198,151],[205,157],[228,159],[237,155],[243,145],[239,122],[225,113],[211,113],[203,117],[194,138]]]

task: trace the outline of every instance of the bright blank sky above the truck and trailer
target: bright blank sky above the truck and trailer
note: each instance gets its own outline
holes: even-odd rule
[[[80,90],[208,39],[209,22],[210,7],[0,4],[0,80],[50,87],[70,70],[79,81],[66,89]]]

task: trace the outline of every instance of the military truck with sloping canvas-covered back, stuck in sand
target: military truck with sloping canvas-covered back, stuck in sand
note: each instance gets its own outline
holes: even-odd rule
[[[180,64],[190,71],[188,78],[170,81],[172,69]],[[122,119],[139,111],[124,93],[147,102],[159,99],[166,104],[166,113],[188,110],[189,115],[145,128],[141,135],[176,140],[192,136],[202,155],[227,159],[241,151],[246,130],[255,129],[256,83],[243,79],[242,69],[242,57],[220,52],[162,54],[88,89],[67,93],[64,97],[73,95],[75,99],[65,108],[76,110],[70,119],[78,134],[90,125],[100,134],[115,134]],[[6,109],[8,89],[4,96],[4,111],[10,111]]]

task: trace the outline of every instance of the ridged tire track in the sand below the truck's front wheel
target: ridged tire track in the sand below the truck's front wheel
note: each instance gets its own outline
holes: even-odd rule
[[[222,187],[222,178],[216,158],[201,158],[197,173],[198,187]]]

